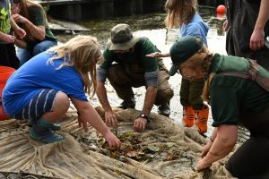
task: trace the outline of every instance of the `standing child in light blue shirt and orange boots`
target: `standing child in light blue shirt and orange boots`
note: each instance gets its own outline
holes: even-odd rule
[[[167,0],[165,9],[168,15],[165,20],[166,26],[179,28],[178,37],[195,36],[202,39],[207,46],[208,25],[201,16],[196,13],[196,0]],[[163,55],[163,57],[169,55]],[[209,108],[201,98],[204,87],[203,79],[189,81],[183,77],[180,87],[180,103],[183,106],[182,123],[184,126],[192,127],[196,124],[198,132],[207,132],[207,120]]]

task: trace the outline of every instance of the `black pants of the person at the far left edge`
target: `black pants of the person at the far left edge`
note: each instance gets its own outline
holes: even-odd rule
[[[16,56],[14,44],[0,44],[0,66],[19,68],[20,61]]]

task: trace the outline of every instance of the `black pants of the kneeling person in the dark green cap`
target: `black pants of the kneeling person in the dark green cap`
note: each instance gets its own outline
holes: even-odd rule
[[[230,157],[227,170],[239,179],[269,178],[269,109],[262,113],[245,113],[242,124],[250,138]]]

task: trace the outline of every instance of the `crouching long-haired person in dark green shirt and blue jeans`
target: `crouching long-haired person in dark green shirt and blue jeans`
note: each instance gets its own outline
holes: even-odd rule
[[[32,56],[56,46],[56,38],[48,28],[46,13],[39,3],[30,0],[13,0],[13,20],[27,33],[23,40],[15,40],[21,65]]]

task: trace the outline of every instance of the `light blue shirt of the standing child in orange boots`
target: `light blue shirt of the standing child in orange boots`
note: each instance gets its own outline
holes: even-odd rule
[[[204,45],[207,46],[208,25],[203,21],[201,16],[195,13],[194,18],[187,24],[183,24],[179,29],[179,38],[185,36],[195,36],[201,38]]]

